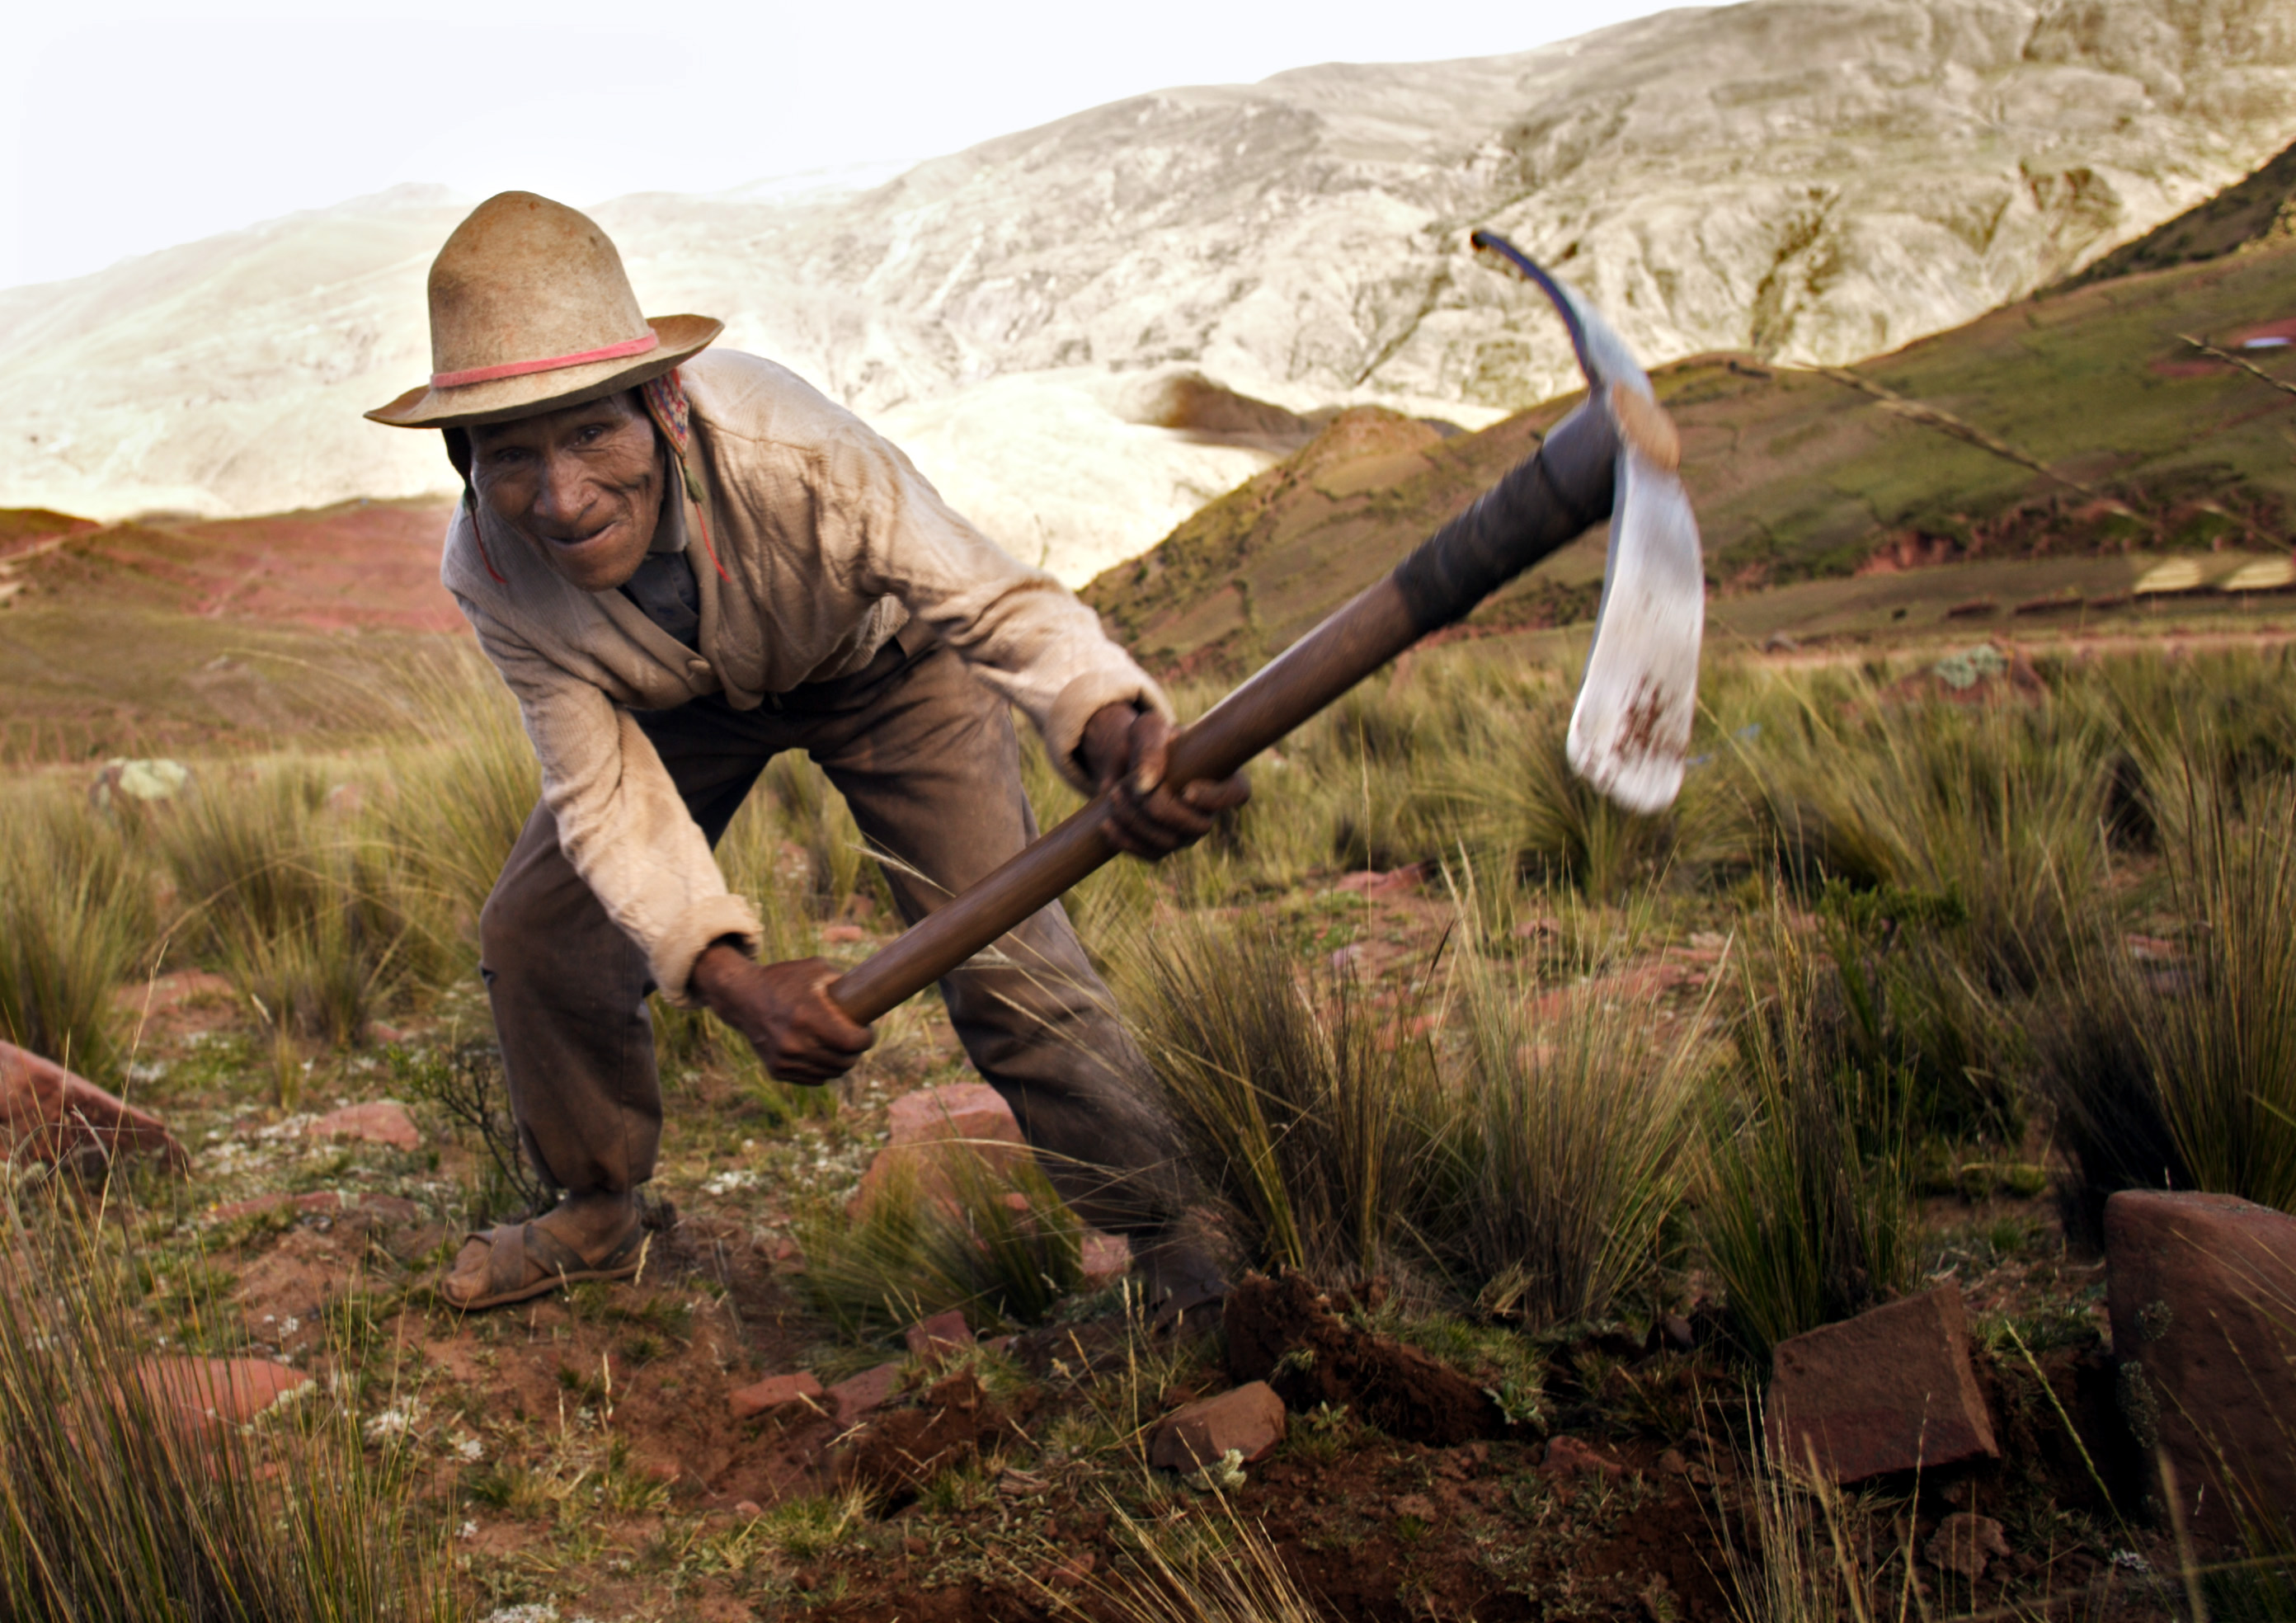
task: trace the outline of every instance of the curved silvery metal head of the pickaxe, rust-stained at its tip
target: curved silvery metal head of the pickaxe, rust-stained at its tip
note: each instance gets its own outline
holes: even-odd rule
[[[1504,255],[1554,303],[1596,399],[1621,383],[1655,402],[1635,351],[1577,289],[1497,232],[1474,232],[1469,241]],[[1671,434],[1667,438],[1671,464]],[[1626,438],[1603,601],[1566,755],[1573,771],[1628,810],[1665,810],[1683,787],[1704,634],[1706,556],[1690,496],[1671,466]]]

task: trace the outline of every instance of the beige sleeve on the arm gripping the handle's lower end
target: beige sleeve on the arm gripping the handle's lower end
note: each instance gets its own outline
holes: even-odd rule
[[[558,820],[558,849],[645,953],[661,992],[691,1008],[693,960],[726,937],[755,953],[758,914],[726,888],[707,836],[629,709],[526,647],[475,604],[464,601],[464,613],[519,700],[542,764],[542,803]]]

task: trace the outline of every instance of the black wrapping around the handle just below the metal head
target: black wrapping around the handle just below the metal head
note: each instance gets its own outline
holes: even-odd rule
[[[1619,425],[1589,402],[1554,425],[1536,455],[1474,498],[1396,565],[1396,588],[1421,634],[1474,606],[1609,517]]]

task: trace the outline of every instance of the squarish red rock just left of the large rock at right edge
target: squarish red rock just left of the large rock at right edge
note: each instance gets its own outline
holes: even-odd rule
[[[1871,1309],[1777,1343],[1766,1430],[1773,1455],[1814,1455],[1837,1483],[2000,1458],[1970,1368],[1961,1286]]]

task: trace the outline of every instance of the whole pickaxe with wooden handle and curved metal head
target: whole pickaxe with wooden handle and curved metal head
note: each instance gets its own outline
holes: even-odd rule
[[[1570,712],[1573,771],[1630,810],[1655,813],[1683,785],[1697,700],[1706,567],[1676,477],[1681,448],[1651,381],[1600,312],[1497,232],[1476,248],[1511,259],[1554,303],[1587,374],[1587,404],[1394,574],[1302,636],[1196,723],[1173,735],[1166,781],[1226,778],[1405,647],[1456,620],[1609,519],[1593,647]],[[829,983],[870,1024],[957,969],[1116,856],[1095,797],[1003,868]]]

